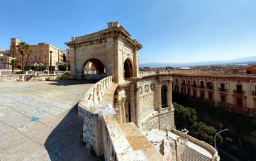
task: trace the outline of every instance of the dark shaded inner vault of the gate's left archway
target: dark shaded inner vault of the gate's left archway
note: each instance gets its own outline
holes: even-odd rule
[[[99,59],[95,59],[95,58],[88,59],[84,62],[82,67],[82,74],[84,74],[84,69],[86,67],[86,64],[88,64],[88,62],[91,62],[95,67],[96,69],[95,74],[106,74],[106,67],[104,66],[104,64]]]

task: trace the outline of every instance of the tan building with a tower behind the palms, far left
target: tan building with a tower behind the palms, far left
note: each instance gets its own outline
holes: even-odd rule
[[[10,46],[10,55],[11,57],[15,57],[19,60],[19,64],[22,64],[22,55],[17,51],[17,45],[19,45],[20,40],[16,38],[11,39],[11,46]],[[59,52],[60,50],[55,46],[49,45],[47,43],[38,43],[38,45],[30,45],[31,47],[31,55],[26,55],[24,57],[25,62],[28,59],[28,64],[43,64],[47,67],[50,66],[50,60],[52,55],[52,66],[55,66],[56,63],[60,62],[60,55],[59,53],[63,53],[63,51]],[[52,54],[50,53],[52,51]],[[63,61],[63,58],[62,58]]]

